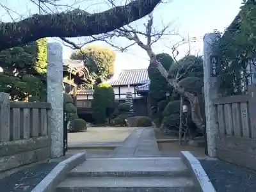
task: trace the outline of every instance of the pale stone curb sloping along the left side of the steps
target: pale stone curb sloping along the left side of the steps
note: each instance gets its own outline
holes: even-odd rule
[[[85,153],[77,153],[61,161],[31,192],[51,192],[65,179],[67,172],[86,160]]]

